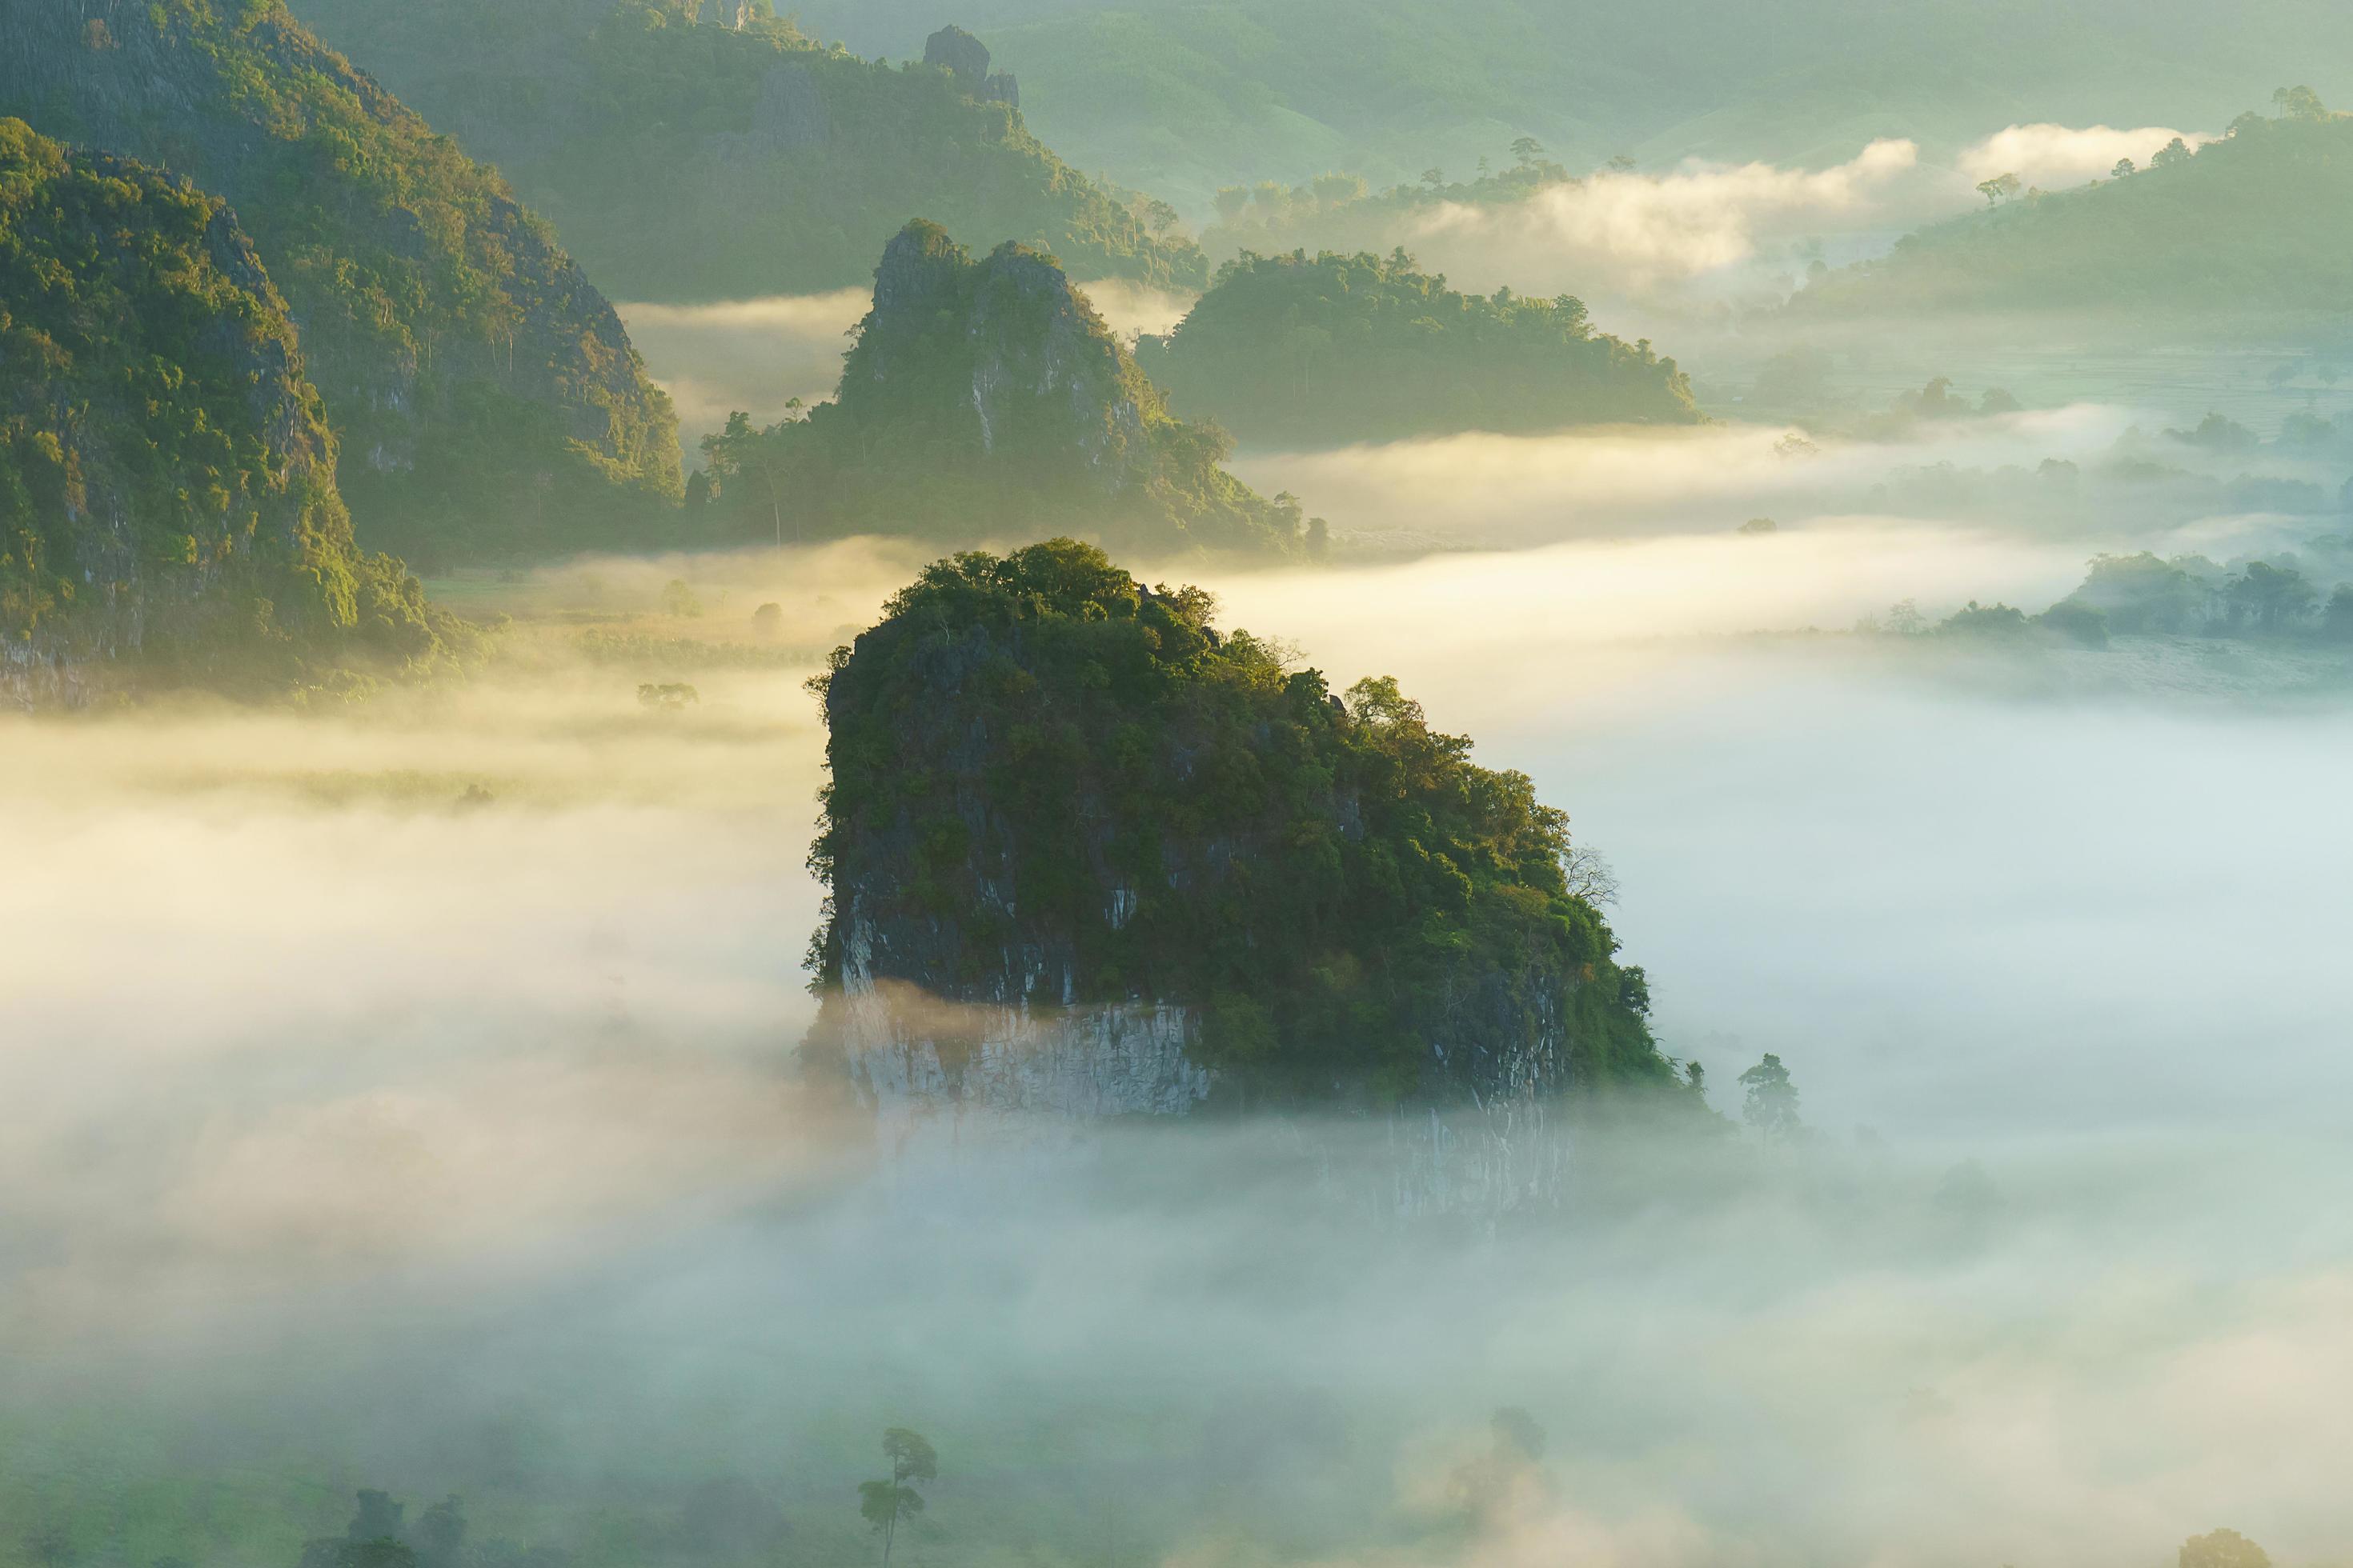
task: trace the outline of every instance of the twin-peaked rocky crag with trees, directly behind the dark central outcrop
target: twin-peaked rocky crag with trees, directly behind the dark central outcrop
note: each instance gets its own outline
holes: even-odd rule
[[[974,259],[915,221],[873,284],[833,402],[769,430],[739,414],[704,444],[718,491],[689,510],[722,534],[1299,548],[1297,510],[1221,468],[1226,437],[1167,411],[1052,256],[1007,242]]]

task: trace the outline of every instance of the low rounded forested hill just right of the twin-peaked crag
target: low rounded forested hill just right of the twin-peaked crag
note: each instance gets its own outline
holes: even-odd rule
[[[1402,249],[1228,261],[1136,364],[1176,411],[1264,442],[1701,418],[1675,362],[1593,331],[1584,301],[1466,296]]]

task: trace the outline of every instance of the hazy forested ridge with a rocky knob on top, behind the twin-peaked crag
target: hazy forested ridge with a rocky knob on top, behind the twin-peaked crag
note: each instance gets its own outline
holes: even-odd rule
[[[1082,277],[1207,280],[1167,219],[1155,233],[1031,136],[969,35],[889,66],[816,45],[765,2],[301,5],[631,299],[856,284],[918,212],[1049,249]]]

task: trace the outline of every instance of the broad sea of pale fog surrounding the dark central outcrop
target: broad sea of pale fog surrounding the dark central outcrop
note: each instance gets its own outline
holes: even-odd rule
[[[767,1561],[859,1563],[911,1425],[944,1474],[908,1563],[2141,1566],[2224,1523],[2341,1561],[2353,705],[2226,651],[1798,630],[2289,522],[1871,510],[1934,454],[1777,442],[1268,456],[1449,548],[1144,564],[1532,773],[1720,1110],[1791,1065],[1817,1143],[1598,1143],[1544,1222],[1400,1232],[1235,1128],[845,1140],[791,1074],[800,679],[904,545],[551,569],[480,679],[358,708],[7,719],[0,1537],[292,1568],[386,1486],[687,1561],[739,1479],[791,1523]],[[558,611],[680,576],[779,602],[809,665],[640,705]],[[1548,1450],[1466,1526],[1497,1406]]]

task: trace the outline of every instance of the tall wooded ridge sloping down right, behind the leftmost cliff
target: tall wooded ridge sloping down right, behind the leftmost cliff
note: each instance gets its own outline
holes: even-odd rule
[[[675,416],[605,296],[278,0],[9,5],[0,110],[238,209],[369,545],[551,550],[678,494]]]

